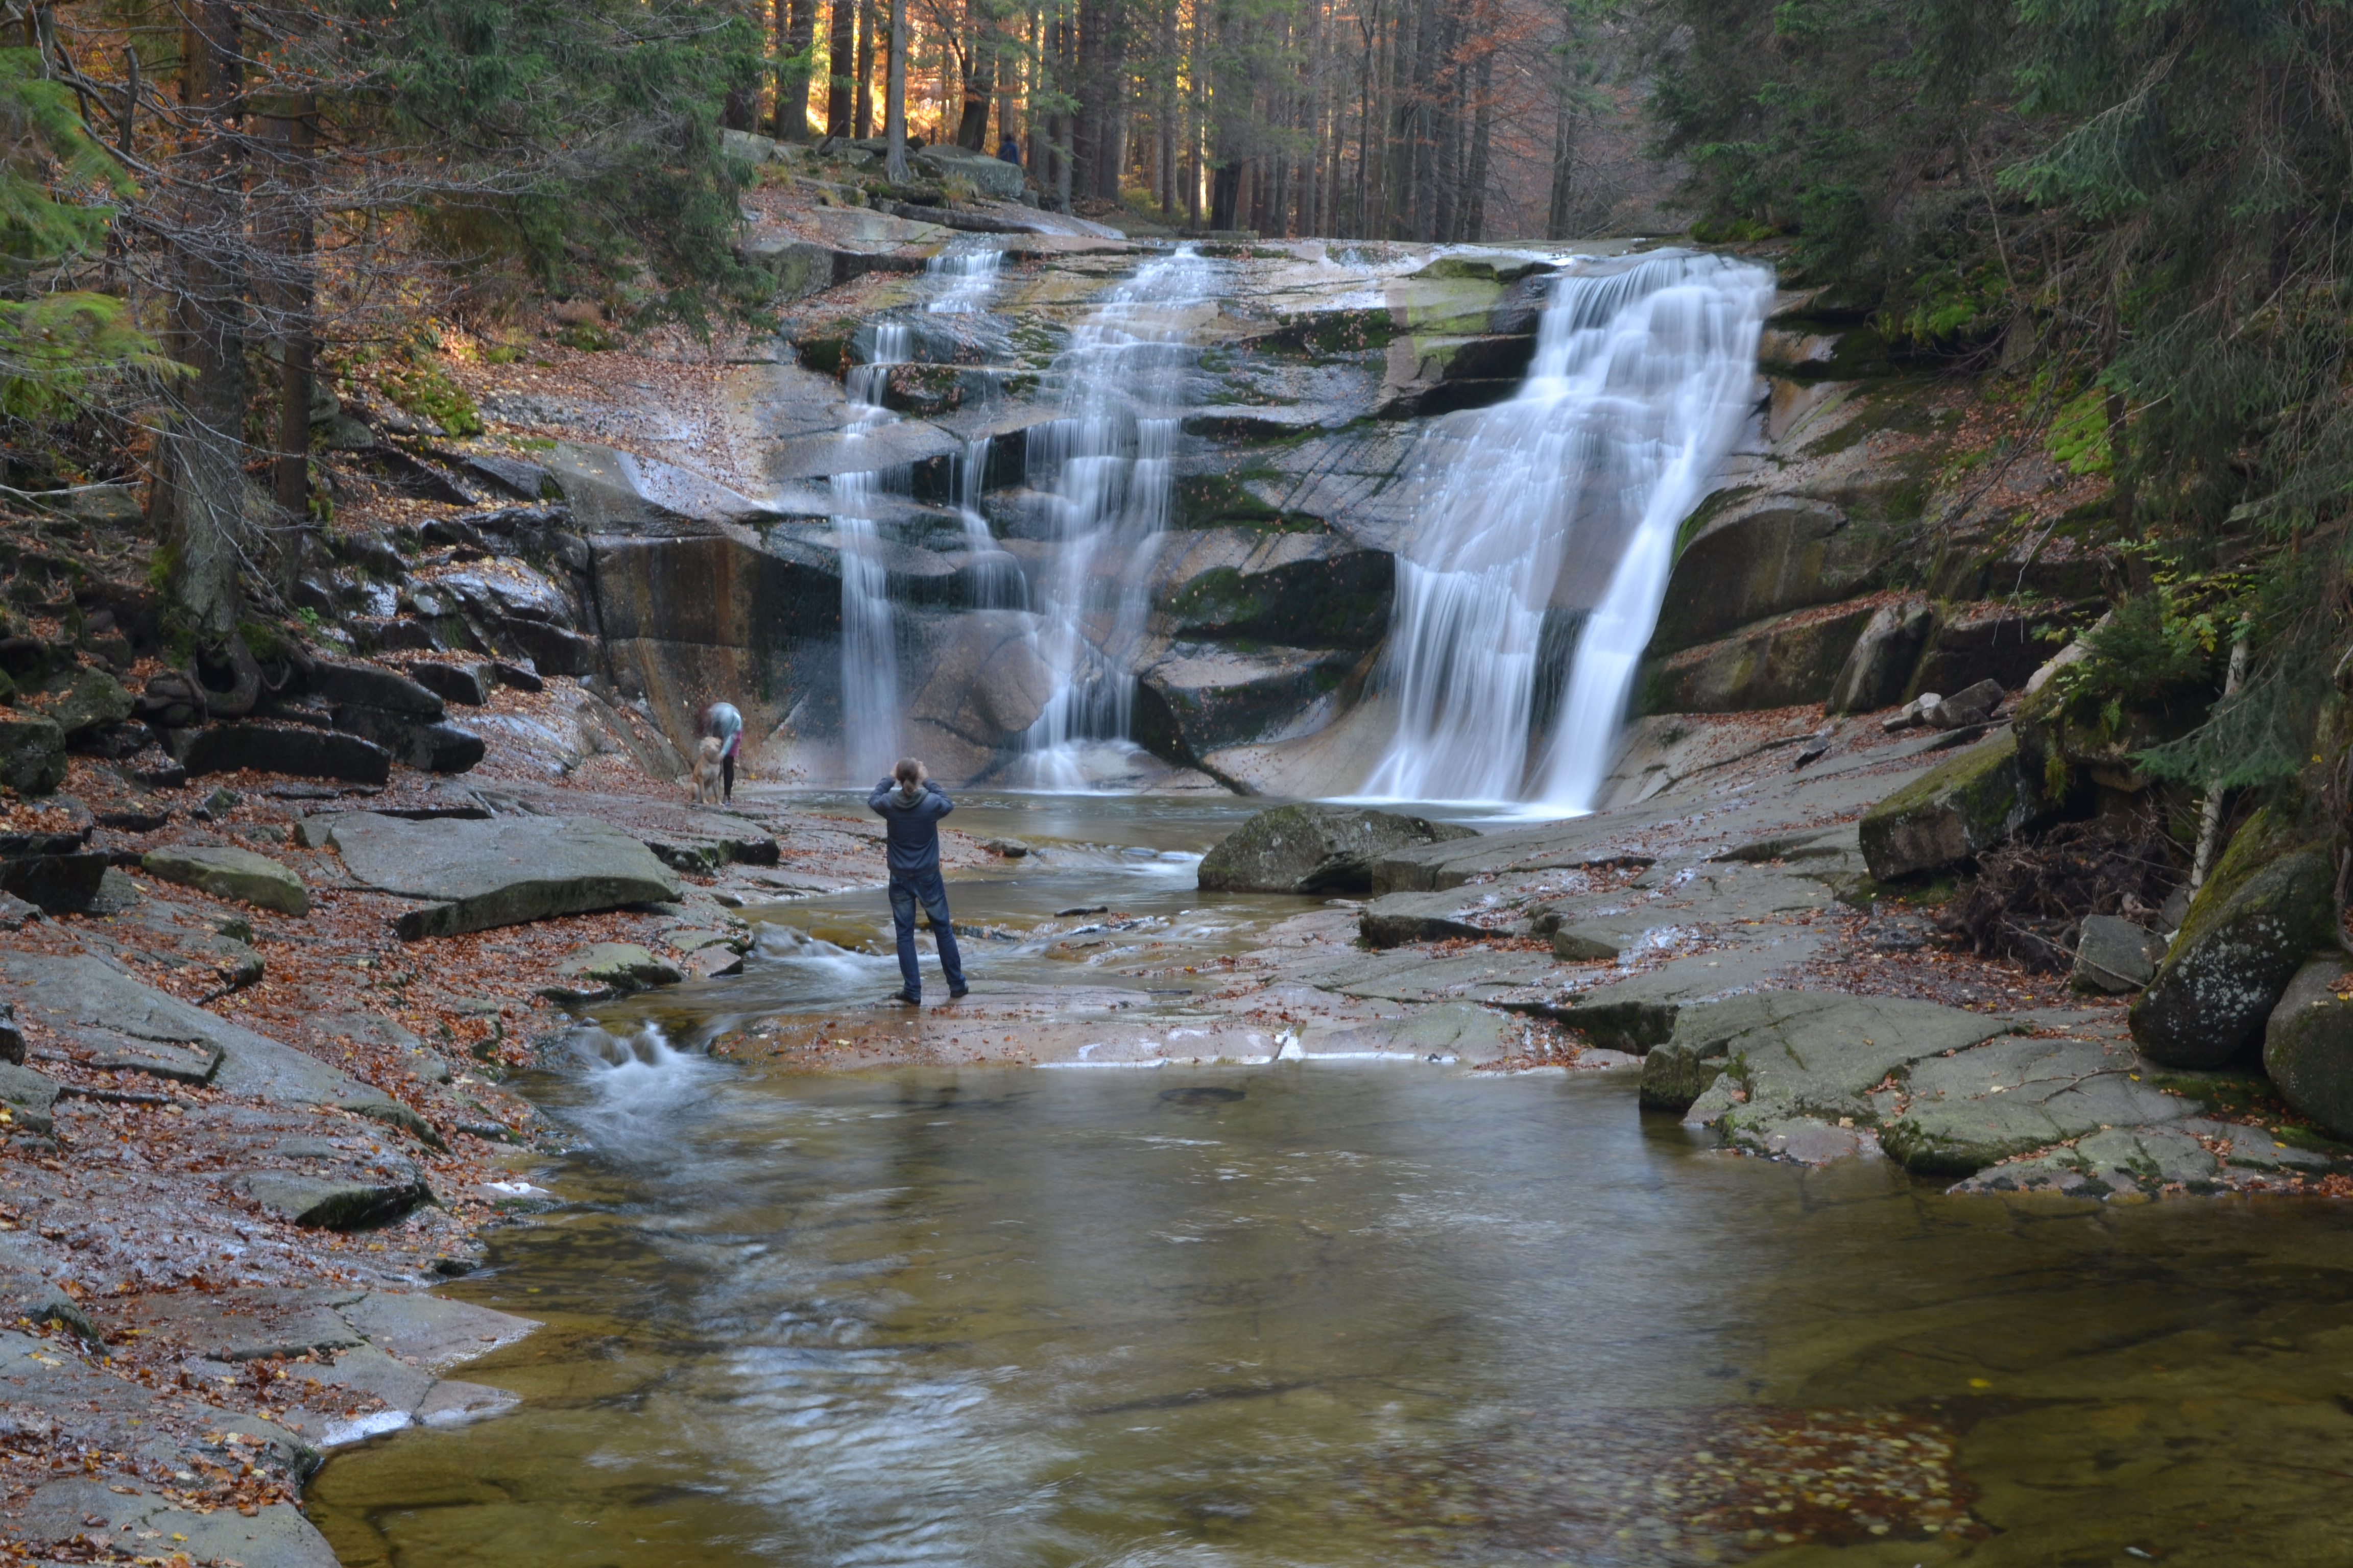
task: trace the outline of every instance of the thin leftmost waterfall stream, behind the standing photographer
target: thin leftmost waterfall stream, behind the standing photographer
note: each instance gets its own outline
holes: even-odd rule
[[[969,315],[988,303],[1005,254],[995,247],[944,249],[925,263],[932,299],[925,313]],[[894,364],[906,364],[915,334],[904,320],[875,322],[873,357],[842,376],[849,397],[852,442],[875,425],[896,418],[882,407]],[[974,480],[976,484],[976,480]],[[880,494],[906,494],[906,465],[887,470],[838,473],[833,489],[833,531],[842,550],[842,766],[849,783],[868,783],[889,773],[899,757],[899,646],[896,616],[889,602],[889,571],[882,564],[882,538],[875,531],[873,501]],[[988,524],[967,510],[967,534]],[[991,541],[986,548],[995,548]]]

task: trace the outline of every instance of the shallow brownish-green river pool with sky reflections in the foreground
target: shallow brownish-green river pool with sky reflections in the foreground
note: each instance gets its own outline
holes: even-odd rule
[[[2337,1206],[1946,1199],[1626,1074],[654,1056],[536,1086],[569,1204],[452,1286],[548,1324],[464,1373],[522,1406],[334,1458],[346,1563],[2353,1561]]]

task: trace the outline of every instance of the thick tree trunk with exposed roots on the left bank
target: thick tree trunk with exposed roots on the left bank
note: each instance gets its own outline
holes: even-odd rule
[[[193,374],[172,390],[160,442],[158,522],[174,555],[172,590],[198,639],[238,630],[238,571],[259,496],[245,480],[245,221],[231,115],[240,92],[235,0],[198,0],[184,35],[181,99],[198,113],[179,158],[186,221],[176,235],[174,357]]]

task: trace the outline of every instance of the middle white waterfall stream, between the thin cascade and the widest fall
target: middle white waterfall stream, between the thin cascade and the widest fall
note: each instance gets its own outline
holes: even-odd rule
[[[1024,738],[1042,788],[1082,788],[1085,743],[1127,738],[1195,357],[1184,317],[1214,277],[1212,263],[1179,247],[1113,289],[1054,360],[1064,414],[1028,433],[1031,473],[1052,475],[1047,515],[1061,543],[1038,635],[1056,686]]]

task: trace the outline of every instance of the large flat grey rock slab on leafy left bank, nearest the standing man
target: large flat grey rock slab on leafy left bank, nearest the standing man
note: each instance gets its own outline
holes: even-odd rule
[[[591,818],[409,823],[358,811],[334,818],[327,842],[367,886],[431,900],[395,922],[405,940],[680,896],[654,851]]]

